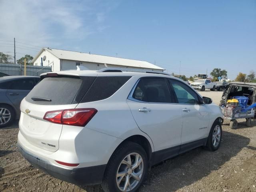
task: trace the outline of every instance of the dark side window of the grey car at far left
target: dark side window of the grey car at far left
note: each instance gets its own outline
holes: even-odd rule
[[[16,79],[10,81],[10,90],[32,90],[32,88],[35,86],[34,79]]]

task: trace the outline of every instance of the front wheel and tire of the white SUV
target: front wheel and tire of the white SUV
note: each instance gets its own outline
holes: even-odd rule
[[[210,151],[216,151],[220,147],[220,142],[222,139],[222,127],[221,122],[218,120],[215,120],[215,122],[212,124],[212,128],[210,130],[206,147]]]

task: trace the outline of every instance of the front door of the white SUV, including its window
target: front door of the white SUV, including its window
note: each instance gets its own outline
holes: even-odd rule
[[[202,145],[209,131],[208,108],[202,98],[183,82],[169,79],[176,103],[182,111],[181,152]]]

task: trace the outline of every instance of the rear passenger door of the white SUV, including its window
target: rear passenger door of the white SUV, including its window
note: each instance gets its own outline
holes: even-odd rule
[[[182,111],[172,104],[165,78],[141,78],[127,103],[140,130],[152,139],[155,151],[166,150],[163,158],[178,154],[182,131]]]

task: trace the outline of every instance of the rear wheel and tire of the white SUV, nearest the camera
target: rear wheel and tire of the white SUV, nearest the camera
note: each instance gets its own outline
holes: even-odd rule
[[[136,160],[140,164],[136,165]],[[137,167],[134,169],[132,166]],[[130,192],[135,192],[143,183],[147,170],[148,158],[142,146],[134,142],[124,142],[115,150],[108,162],[101,184],[102,189],[104,192],[123,192],[129,187]],[[130,185],[127,184],[126,187],[128,182]]]

